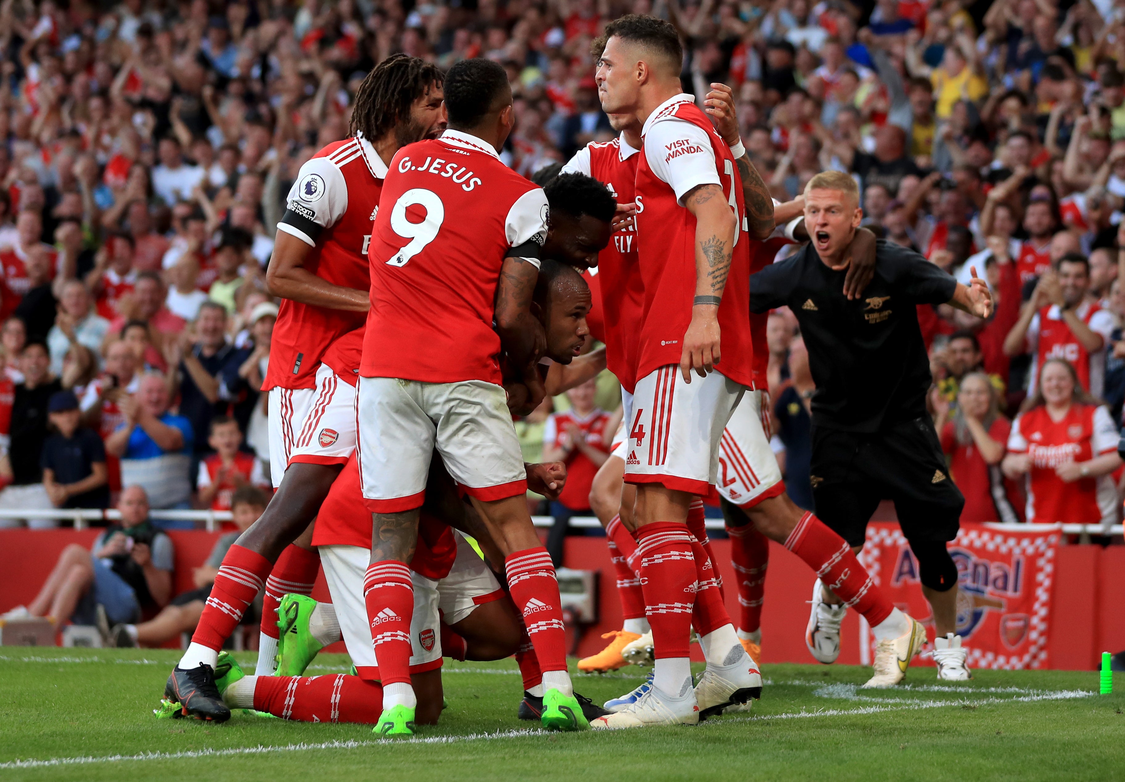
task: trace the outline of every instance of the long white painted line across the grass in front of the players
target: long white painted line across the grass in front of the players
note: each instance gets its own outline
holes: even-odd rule
[[[824,709],[820,711],[796,711],[796,712],[784,712],[780,714],[760,714],[755,717],[729,717],[722,721],[716,722],[703,722],[703,727],[716,726],[716,725],[730,725],[735,722],[760,722],[767,720],[782,720],[782,719],[804,719],[812,717],[853,717],[863,714],[874,714],[884,711],[916,711],[920,709],[940,709],[955,705],[990,705],[990,704],[1002,704],[1012,702],[1033,702],[1033,701],[1056,701],[1056,700],[1071,700],[1076,698],[1090,698],[1094,695],[1092,692],[1087,690],[1059,690],[1055,692],[1040,694],[1040,695],[1025,695],[1019,698],[986,698],[979,701],[969,700],[957,700],[957,701],[893,701],[894,705],[865,705],[858,709]],[[878,698],[864,696],[863,700],[878,701]],[[0,771],[8,768],[45,768],[50,766],[68,766],[68,765],[90,765],[96,763],[123,763],[128,761],[176,761],[182,758],[195,758],[195,757],[227,757],[232,755],[266,755],[269,753],[280,753],[280,752],[305,752],[309,749],[360,749],[363,747],[376,747],[385,745],[400,745],[400,744],[460,744],[464,741],[494,741],[508,738],[529,738],[534,736],[549,735],[547,730],[501,730],[490,734],[467,734],[464,736],[422,736],[411,739],[375,739],[369,741],[323,741],[320,744],[287,744],[281,746],[262,746],[256,747],[231,747],[227,749],[187,749],[183,752],[173,753],[141,753],[137,755],[104,755],[104,756],[80,756],[80,757],[52,757],[43,761],[37,759],[26,759],[26,761],[9,761],[7,763],[0,763]]]

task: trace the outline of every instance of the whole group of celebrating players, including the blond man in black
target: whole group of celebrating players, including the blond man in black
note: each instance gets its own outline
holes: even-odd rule
[[[282,298],[263,387],[277,492],[224,558],[160,713],[224,721],[242,709],[410,735],[438,722],[443,657],[513,654],[519,717],[550,729],[745,710],[762,692],[767,540],[816,572],[813,656],[836,659],[850,606],[878,641],[867,686],[891,686],[926,633],[856,556],[883,498],[918,558],[938,676],[969,677],[945,548],[963,500],[926,417],[915,305],[986,317],[987,286],[860,230],[846,174],[818,174],[801,198],[775,203],[729,89],[713,84],[703,108],[682,93],[668,23],[622,17],[593,54],[620,135],[544,187],[501,161],[512,91],[488,60],[442,74],[389,57],[359,89],[351,136],[302,167],[267,277]],[[781,306],[798,316],[818,387],[819,518],[790,501],[768,444],[765,313]],[[626,623],[579,668],[652,663],[647,682],[604,708],[574,691],[555,568],[524,500],[529,488],[557,496],[565,468],[525,464],[512,424],[602,368],[574,360],[592,308],[624,407],[591,500]],[[703,522],[716,489],[737,626]],[[331,603],[308,596],[322,567]],[[222,648],[263,590],[248,674]],[[706,660],[694,681],[693,629]],[[336,640],[353,673],[303,676]]]

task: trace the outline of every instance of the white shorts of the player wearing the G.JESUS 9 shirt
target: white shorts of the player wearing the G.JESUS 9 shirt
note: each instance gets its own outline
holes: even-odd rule
[[[358,415],[360,482],[372,513],[422,506],[434,448],[478,500],[528,491],[506,395],[493,383],[361,377]]]

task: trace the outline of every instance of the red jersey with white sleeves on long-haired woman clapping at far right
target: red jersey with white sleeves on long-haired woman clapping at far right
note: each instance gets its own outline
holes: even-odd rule
[[[1072,404],[1061,421],[1052,420],[1045,406],[1019,415],[1011,424],[1008,451],[1027,453],[1032,458],[1027,521],[1083,524],[1100,521],[1099,484],[1106,480],[1112,484],[1113,478],[1102,476],[1064,483],[1055,475],[1055,468],[1071,461],[1089,461],[1115,450],[1117,429],[1104,405]]]

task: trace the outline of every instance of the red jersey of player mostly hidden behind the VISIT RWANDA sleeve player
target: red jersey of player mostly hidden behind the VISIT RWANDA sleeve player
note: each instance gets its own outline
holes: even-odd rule
[[[638,152],[624,136],[611,142],[591,142],[562,167],[562,173],[593,177],[609,188],[618,204],[632,204],[640,160]],[[610,244],[597,253],[596,273],[602,293],[605,366],[631,394],[637,385],[637,347],[645,308],[645,284],[637,266],[636,226],[613,234]]]

